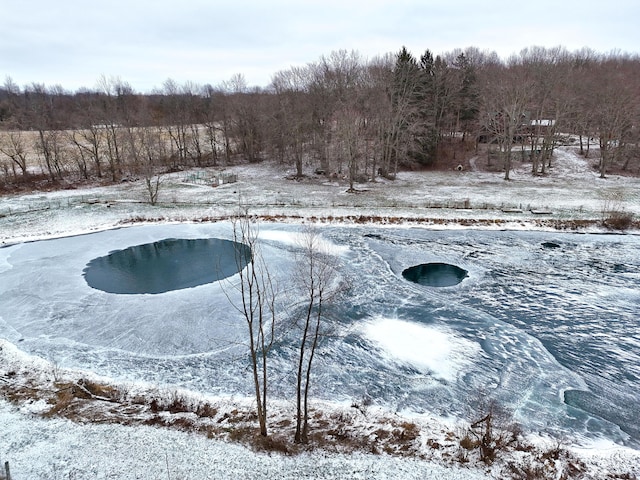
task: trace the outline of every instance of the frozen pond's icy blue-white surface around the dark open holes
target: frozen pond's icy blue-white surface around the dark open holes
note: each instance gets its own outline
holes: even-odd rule
[[[275,393],[293,389],[302,227],[262,225],[282,292]],[[394,410],[474,417],[478,399],[525,429],[640,446],[640,239],[625,235],[321,227],[340,260],[313,394]],[[90,287],[92,259],[165,239],[231,239],[228,224],[139,226],[0,249],[0,335],[67,367],[219,394],[251,395],[238,276],[158,294]],[[466,272],[407,280],[417,265]]]

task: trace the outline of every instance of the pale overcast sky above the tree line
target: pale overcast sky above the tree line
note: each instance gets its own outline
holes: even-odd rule
[[[10,76],[72,91],[101,75],[141,92],[236,73],[266,86],[339,49],[640,52],[639,0],[0,0],[0,18],[0,84]]]

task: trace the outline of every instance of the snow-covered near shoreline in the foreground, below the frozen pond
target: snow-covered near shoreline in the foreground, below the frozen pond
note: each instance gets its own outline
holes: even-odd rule
[[[118,418],[114,403],[86,403],[76,398],[60,407],[53,398],[66,385],[105,382],[108,379],[81,371],[64,371],[41,358],[27,355],[14,345],[0,341],[3,384],[0,389],[10,403],[0,401],[2,460],[9,461],[12,478],[433,478],[480,479],[509,478],[514,469],[547,468],[547,471],[570,472],[575,478],[636,478],[640,474],[640,452],[610,443],[575,446],[542,437],[528,437],[526,448],[501,452],[496,462],[485,465],[460,447],[460,433],[467,424],[453,419],[429,415],[390,414],[379,408],[354,407],[322,403],[316,405],[328,418],[339,418],[345,436],[361,438],[389,435],[387,447],[369,453],[359,447],[339,444],[316,447],[295,454],[283,454],[281,447],[256,451],[238,443],[233,433],[218,438],[203,434],[208,421],[187,412],[160,412],[135,409],[128,404],[130,420]],[[114,384],[112,384],[114,385]],[[29,393],[18,393],[28,388]],[[111,388],[111,387],[110,387]],[[14,392],[13,394],[11,392]],[[152,395],[167,402],[176,391],[158,391],[140,383],[126,386],[127,396]],[[215,423],[250,411],[248,398],[207,398],[195,392],[179,392],[183,399],[207,401],[216,410]],[[86,400],[86,399],[85,399]],[[65,400],[65,401],[68,401]],[[162,401],[162,400],[160,400]],[[208,403],[209,404],[209,403]],[[75,406],[74,406],[75,405]],[[65,409],[67,409],[65,411]],[[55,413],[51,413],[55,412]],[[271,406],[272,435],[282,437],[293,405],[276,401]],[[86,415],[94,416],[89,420]],[[162,420],[160,420],[160,418]],[[348,419],[348,421],[347,421]],[[201,423],[198,423],[198,422]],[[213,419],[211,419],[213,421]],[[253,420],[232,420],[225,431],[250,428]],[[280,426],[278,426],[280,425]],[[187,426],[187,428],[185,428]],[[229,428],[230,426],[230,428]],[[339,425],[336,425],[339,428]],[[416,428],[419,435],[413,443],[394,432]],[[253,428],[255,435],[255,426]],[[404,430],[406,431],[406,430]],[[372,432],[375,432],[372,433]],[[383,432],[387,432],[383,434]],[[235,441],[230,439],[236,438]],[[413,439],[409,439],[413,441]],[[413,445],[412,450],[391,450],[393,443]],[[291,445],[292,446],[292,445]],[[558,450],[559,449],[559,450]],[[547,453],[545,453],[547,452]],[[552,463],[544,459],[556,453]],[[555,463],[554,463],[555,462]],[[546,465],[546,467],[545,467]],[[631,475],[624,477],[622,475]],[[514,476],[512,478],[520,478]],[[574,477],[568,477],[574,478]]]

